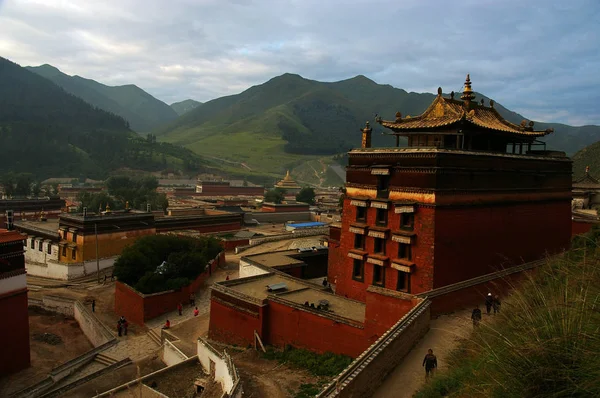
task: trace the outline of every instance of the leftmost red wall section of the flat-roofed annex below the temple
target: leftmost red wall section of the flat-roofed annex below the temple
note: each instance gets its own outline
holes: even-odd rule
[[[262,331],[262,310],[255,307],[254,311],[236,308],[217,301],[210,300],[210,321],[208,338],[227,344],[237,344],[243,347],[254,343],[254,331]],[[263,340],[263,344],[266,342]]]

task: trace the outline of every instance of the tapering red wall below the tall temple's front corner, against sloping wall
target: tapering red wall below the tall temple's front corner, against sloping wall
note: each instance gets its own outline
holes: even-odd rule
[[[416,299],[401,299],[367,291],[365,335],[375,341],[415,305]]]

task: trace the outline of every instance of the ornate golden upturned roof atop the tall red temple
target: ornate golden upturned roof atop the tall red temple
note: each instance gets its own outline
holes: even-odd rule
[[[387,127],[396,133],[418,132],[438,127],[451,126],[464,122],[480,129],[491,132],[510,133],[528,137],[543,137],[552,133],[553,129],[536,131],[533,129],[533,122],[521,122],[520,125],[505,120],[496,109],[494,101],[490,101],[490,106],[485,106],[483,100],[480,104],[473,102],[475,95],[471,89],[471,79],[467,75],[465,88],[461,96],[462,100],[454,99],[454,92],[450,98],[442,97],[442,89],[438,88],[438,95],[431,105],[416,117],[404,117],[400,112],[396,113],[395,121],[377,119],[377,122],[383,127]]]

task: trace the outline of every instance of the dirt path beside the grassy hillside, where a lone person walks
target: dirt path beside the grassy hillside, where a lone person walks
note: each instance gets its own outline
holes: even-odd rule
[[[470,318],[471,311],[462,310],[432,320],[429,332],[388,375],[373,394],[373,398],[412,397],[425,382],[425,369],[422,365],[429,348],[438,358],[438,369],[446,369],[447,363],[444,358],[473,330]]]

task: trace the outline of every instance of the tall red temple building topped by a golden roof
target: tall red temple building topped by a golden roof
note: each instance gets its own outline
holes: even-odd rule
[[[367,122],[349,152],[330,246],[337,294],[364,301],[371,285],[420,294],[569,246],[570,159],[538,141],[552,130],[476,102],[469,75],[460,99],[440,88],[422,115],[376,121],[396,147],[372,148]]]

